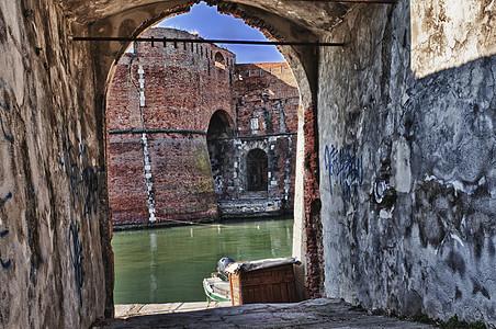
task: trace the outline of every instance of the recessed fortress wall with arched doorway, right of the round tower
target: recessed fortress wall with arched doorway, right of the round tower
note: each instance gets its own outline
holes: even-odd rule
[[[233,98],[237,134],[216,140],[222,145],[218,158],[225,162],[225,179],[217,191],[223,216],[239,216],[241,209],[243,215],[291,212],[300,94],[290,67],[285,63],[237,64]],[[215,169],[215,155],[210,149]],[[247,157],[253,149],[268,157],[267,193],[248,191]],[[233,157],[222,157],[225,152]]]

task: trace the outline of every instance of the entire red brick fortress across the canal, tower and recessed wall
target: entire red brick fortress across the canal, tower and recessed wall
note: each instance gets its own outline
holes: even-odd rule
[[[144,36],[196,38],[172,29]],[[108,106],[114,224],[217,217],[217,202],[247,196],[243,171],[253,148],[268,154],[266,203],[270,198],[278,212],[292,208],[294,78],[286,64],[235,63],[234,54],[212,44],[161,42],[135,44],[120,60]],[[229,134],[207,136],[215,112],[227,117]]]

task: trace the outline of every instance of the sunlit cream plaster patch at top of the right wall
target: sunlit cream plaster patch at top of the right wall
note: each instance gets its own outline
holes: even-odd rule
[[[496,54],[496,3],[412,0],[412,70],[417,77]]]

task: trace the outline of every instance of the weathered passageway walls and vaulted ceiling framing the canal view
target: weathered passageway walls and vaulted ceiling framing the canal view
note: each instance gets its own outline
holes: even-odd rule
[[[105,103],[126,45],[71,37],[136,37],[192,2],[0,5],[1,325],[113,315]],[[277,39],[345,43],[281,47],[308,295],[496,324],[494,1],[208,2]]]

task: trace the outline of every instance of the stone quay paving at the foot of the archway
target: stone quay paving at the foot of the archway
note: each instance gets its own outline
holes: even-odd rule
[[[93,328],[431,328],[369,315],[338,299],[226,306],[227,303],[117,305],[115,319]]]

